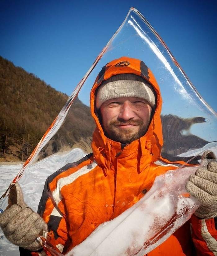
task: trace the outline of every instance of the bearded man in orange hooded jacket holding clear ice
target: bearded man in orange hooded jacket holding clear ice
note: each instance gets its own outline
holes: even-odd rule
[[[162,98],[144,62],[122,57],[108,63],[96,78],[90,103],[96,123],[93,153],[48,177],[38,208],[47,226],[21,203],[0,216],[1,227],[11,242],[30,250],[40,249],[35,237],[48,229],[47,240],[65,254],[101,223],[138,202],[157,175],[176,169],[155,163],[163,160]],[[190,177],[187,189],[202,202],[190,223],[193,242],[187,222],[149,256],[195,255],[194,246],[198,255],[216,255],[216,184],[214,161]],[[26,229],[16,222],[24,223]]]

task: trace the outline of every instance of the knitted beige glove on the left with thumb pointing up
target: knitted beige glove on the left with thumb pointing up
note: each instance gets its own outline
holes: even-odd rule
[[[47,230],[47,224],[25,204],[18,183],[11,188],[8,203],[7,209],[0,214],[0,226],[6,238],[30,251],[41,249],[36,238]]]

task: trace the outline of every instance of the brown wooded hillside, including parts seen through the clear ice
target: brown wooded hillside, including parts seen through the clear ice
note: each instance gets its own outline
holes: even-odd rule
[[[0,57],[0,161],[24,161],[64,106],[68,96],[21,67]],[[208,142],[190,131],[203,117],[181,119],[162,116],[164,145],[162,156],[171,160],[186,150],[201,148]],[[95,123],[90,108],[78,98],[54,137],[41,150],[39,159],[73,147],[91,152]],[[186,135],[184,135],[186,134]]]

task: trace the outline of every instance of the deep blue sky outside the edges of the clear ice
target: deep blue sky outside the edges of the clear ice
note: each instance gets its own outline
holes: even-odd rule
[[[159,33],[217,112],[216,1],[0,2],[0,55],[68,95],[130,7]]]

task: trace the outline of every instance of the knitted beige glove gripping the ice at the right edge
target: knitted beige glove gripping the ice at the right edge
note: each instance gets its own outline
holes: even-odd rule
[[[201,166],[189,177],[185,187],[201,202],[194,213],[197,217],[211,219],[217,216],[217,162],[213,152],[203,153]]]

